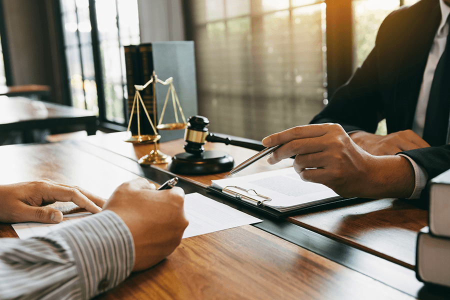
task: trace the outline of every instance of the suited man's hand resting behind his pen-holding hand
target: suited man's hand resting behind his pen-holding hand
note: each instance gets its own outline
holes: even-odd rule
[[[349,135],[358,146],[372,155],[395,155],[401,151],[429,147],[426,141],[409,129],[387,135],[365,131],[356,131]]]

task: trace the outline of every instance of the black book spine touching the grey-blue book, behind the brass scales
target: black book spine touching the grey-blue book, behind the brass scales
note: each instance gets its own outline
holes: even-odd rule
[[[140,75],[142,78],[142,84],[148,82],[151,79],[151,75],[153,73],[153,56],[152,56],[152,48],[151,43],[139,44],[138,46],[138,56],[140,61]],[[153,107],[153,83],[150,83],[144,90],[141,91],[140,95],[142,96],[142,100],[145,104],[145,108],[147,109],[148,115],[150,116],[151,121],[154,124],[153,118],[153,110],[156,111],[156,107]],[[143,110],[143,109],[141,109]],[[148,122],[148,118],[143,113],[143,119],[141,116],[140,121],[140,130],[144,132],[142,134],[154,134],[151,125]]]

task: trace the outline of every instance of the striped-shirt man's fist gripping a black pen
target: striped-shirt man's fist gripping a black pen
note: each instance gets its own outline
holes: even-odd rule
[[[155,190],[143,178],[121,184],[109,197],[103,209],[117,213],[133,236],[133,271],[158,263],[179,245],[188,224],[183,202],[180,187]]]

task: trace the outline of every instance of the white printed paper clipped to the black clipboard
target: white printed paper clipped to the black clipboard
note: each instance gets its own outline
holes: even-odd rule
[[[212,180],[212,183],[222,188],[234,185],[245,189],[253,189],[258,194],[271,198],[270,201],[264,202],[264,205],[280,211],[285,207],[301,207],[302,205],[321,202],[324,199],[339,197],[332,189],[323,184],[303,181],[293,167]],[[230,189],[245,193],[245,191],[238,189]],[[248,193],[250,197],[254,198],[253,194]]]

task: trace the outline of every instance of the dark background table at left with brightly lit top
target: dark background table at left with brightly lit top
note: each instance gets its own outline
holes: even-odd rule
[[[81,126],[95,134],[96,116],[85,109],[32,100],[25,97],[0,96],[0,132],[20,130],[24,142],[33,142],[32,129],[55,129]]]

